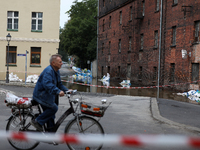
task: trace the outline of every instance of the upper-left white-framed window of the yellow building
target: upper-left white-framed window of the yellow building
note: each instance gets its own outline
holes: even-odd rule
[[[19,12],[18,11],[8,11],[7,13],[7,30],[18,30],[18,20]]]

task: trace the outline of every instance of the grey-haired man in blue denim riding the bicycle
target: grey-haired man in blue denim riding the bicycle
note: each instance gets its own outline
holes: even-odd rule
[[[52,55],[50,65],[47,66],[40,74],[37,84],[33,91],[33,99],[37,101],[43,109],[43,113],[31,124],[39,131],[47,123],[49,131],[54,127],[55,114],[58,110],[58,98],[64,96],[68,89],[62,84],[59,69],[62,66],[62,56],[59,54]]]

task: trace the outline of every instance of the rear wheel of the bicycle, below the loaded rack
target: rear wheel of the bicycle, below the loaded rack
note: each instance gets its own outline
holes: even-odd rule
[[[33,119],[34,116],[31,114],[15,114],[13,115],[6,126],[6,131],[13,131],[13,132],[23,132],[23,131],[31,131],[36,132],[36,129],[31,126],[30,121]],[[34,149],[39,142],[35,140],[28,140],[28,141],[22,141],[22,140],[14,140],[14,139],[8,139],[9,143],[18,150],[32,150]]]

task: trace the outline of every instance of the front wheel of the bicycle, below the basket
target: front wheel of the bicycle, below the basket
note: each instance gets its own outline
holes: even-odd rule
[[[104,134],[104,130],[101,124],[92,117],[81,116],[79,120],[75,118],[70,121],[65,127],[65,134]],[[102,143],[99,145],[81,144],[76,145],[72,143],[67,143],[70,150],[100,150],[102,148]]]

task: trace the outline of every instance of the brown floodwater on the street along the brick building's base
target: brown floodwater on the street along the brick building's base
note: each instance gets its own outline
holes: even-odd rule
[[[130,96],[147,96],[147,97],[157,97],[157,88],[145,88],[145,89],[119,89],[119,88],[107,88],[106,85],[97,79],[92,79],[90,85],[100,85],[104,87],[95,87],[95,86],[87,86],[87,85],[80,85],[76,83],[69,83],[67,81],[72,81],[73,79],[70,77],[62,78],[64,80],[63,84],[69,89],[77,89],[78,91],[82,92],[92,92],[92,93],[107,93],[107,94],[115,94],[115,95],[130,95]],[[75,81],[74,81],[75,82]],[[122,87],[120,82],[113,82],[110,81],[109,86],[112,87]],[[131,85],[132,87],[132,85]],[[171,89],[161,89],[159,90],[159,98],[164,99],[172,99],[177,101],[183,102],[192,102],[194,101],[189,100],[187,97],[179,96],[174,90]]]

